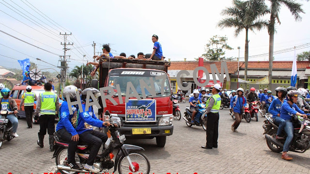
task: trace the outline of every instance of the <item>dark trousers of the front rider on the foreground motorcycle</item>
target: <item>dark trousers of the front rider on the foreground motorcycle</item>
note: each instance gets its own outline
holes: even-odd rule
[[[93,161],[98,154],[101,144],[105,144],[108,140],[107,134],[91,130],[84,131],[83,133],[79,134],[79,138],[83,142],[91,145],[91,151],[87,159],[87,164],[93,165]]]

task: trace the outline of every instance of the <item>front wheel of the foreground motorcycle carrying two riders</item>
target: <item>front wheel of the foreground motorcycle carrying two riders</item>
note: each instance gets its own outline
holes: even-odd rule
[[[123,156],[118,163],[119,174],[150,174],[150,161],[142,152],[130,152],[128,156],[132,161],[131,163],[134,165],[135,170],[131,169],[129,166],[129,161]]]

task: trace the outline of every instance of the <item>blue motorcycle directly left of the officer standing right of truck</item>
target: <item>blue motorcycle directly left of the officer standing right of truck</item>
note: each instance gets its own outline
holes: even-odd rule
[[[196,105],[199,107],[199,109],[194,118],[194,123],[196,126],[202,126],[203,130],[207,131],[207,113],[205,112],[205,104],[200,103]],[[186,121],[186,125],[188,127],[191,127],[192,112],[190,111],[190,108],[188,106],[186,106],[184,114],[185,116],[183,117],[183,119]]]

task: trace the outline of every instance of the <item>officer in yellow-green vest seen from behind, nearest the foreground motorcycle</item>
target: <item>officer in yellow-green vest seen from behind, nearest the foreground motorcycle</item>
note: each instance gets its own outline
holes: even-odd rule
[[[44,135],[49,135],[49,149],[54,149],[54,132],[55,132],[55,115],[59,112],[59,98],[51,92],[52,84],[49,82],[44,84],[45,92],[40,93],[38,102],[34,112],[34,119],[40,123],[40,131],[38,133],[39,140],[37,143],[40,147],[43,147]],[[40,113],[40,117],[39,117]]]

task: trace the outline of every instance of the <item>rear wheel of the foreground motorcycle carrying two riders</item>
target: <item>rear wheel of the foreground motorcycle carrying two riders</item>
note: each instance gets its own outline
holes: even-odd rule
[[[56,166],[58,165],[64,165],[64,166],[68,166],[68,161],[67,161],[67,158],[68,158],[68,149],[67,148],[61,148],[58,150],[58,152],[56,153]],[[79,158],[78,158],[78,155],[76,154],[76,157],[75,157],[75,160],[76,160],[76,163],[78,165],[80,165],[79,163]],[[59,172],[61,172],[62,174],[78,174],[78,172],[69,172],[69,171],[65,171],[65,170],[59,170]]]

